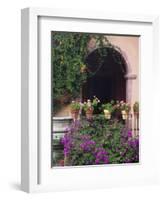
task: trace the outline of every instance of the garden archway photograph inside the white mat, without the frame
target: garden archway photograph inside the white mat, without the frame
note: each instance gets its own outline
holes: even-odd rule
[[[139,54],[140,35],[51,31],[51,167],[140,162]]]

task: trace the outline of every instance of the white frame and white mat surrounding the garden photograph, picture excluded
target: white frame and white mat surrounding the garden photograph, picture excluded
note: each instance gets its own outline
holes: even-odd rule
[[[56,19],[56,20],[55,20]],[[41,21],[42,20],[42,21]],[[60,20],[59,23],[57,20]],[[68,22],[68,23],[67,23]],[[94,24],[94,25],[93,25]],[[109,25],[105,29],[102,24]],[[158,72],[158,16],[137,16],[80,10],[25,8],[22,10],[21,188],[26,192],[108,188],[158,183],[158,130],[155,110]],[[97,29],[97,25],[101,26]],[[106,26],[106,27],[109,27]],[[138,165],[50,167],[50,47],[49,30],[142,34],[141,43],[141,157]],[[125,27],[125,28],[124,28]],[[127,28],[127,29],[126,29]],[[41,36],[40,36],[41,32]],[[47,39],[46,39],[47,38]],[[43,43],[42,43],[43,42]],[[46,46],[45,46],[46,45]],[[44,47],[44,50],[41,48]],[[149,48],[148,48],[149,47]],[[42,48],[43,49],[43,48]],[[40,59],[44,55],[45,59]],[[42,56],[43,57],[43,56]],[[43,63],[43,64],[42,64]],[[49,64],[48,64],[49,63]],[[46,69],[42,66],[47,64]],[[148,65],[148,68],[145,67]],[[41,70],[40,70],[41,69]],[[42,71],[42,72],[40,72]],[[152,84],[151,81],[154,81]],[[150,87],[154,88],[150,97]],[[46,98],[44,98],[45,91]],[[144,92],[146,91],[146,95]],[[149,99],[149,100],[148,100]],[[148,101],[147,101],[148,100]],[[47,108],[45,107],[48,104]],[[149,116],[148,109],[152,113]],[[146,122],[148,121],[148,122]],[[41,122],[41,125],[40,125]],[[151,126],[149,127],[149,124]],[[43,129],[43,131],[42,131]],[[49,132],[49,135],[45,135]],[[152,148],[150,145],[152,144]],[[152,156],[152,163],[150,159]],[[111,172],[111,173],[110,173]],[[64,182],[64,184],[63,184]]]

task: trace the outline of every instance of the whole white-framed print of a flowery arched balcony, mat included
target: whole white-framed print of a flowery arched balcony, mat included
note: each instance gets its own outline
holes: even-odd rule
[[[157,16],[22,10],[22,190],[158,182],[157,34]]]

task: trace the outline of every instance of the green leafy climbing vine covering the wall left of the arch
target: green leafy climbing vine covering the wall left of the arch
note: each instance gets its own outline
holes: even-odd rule
[[[52,32],[52,98],[53,109],[80,96],[86,81],[88,44],[94,39],[98,47],[106,45],[102,34]]]

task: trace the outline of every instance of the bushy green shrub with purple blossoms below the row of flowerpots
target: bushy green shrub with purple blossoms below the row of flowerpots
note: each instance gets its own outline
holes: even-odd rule
[[[101,115],[73,122],[61,143],[69,166],[139,162],[139,138]]]

